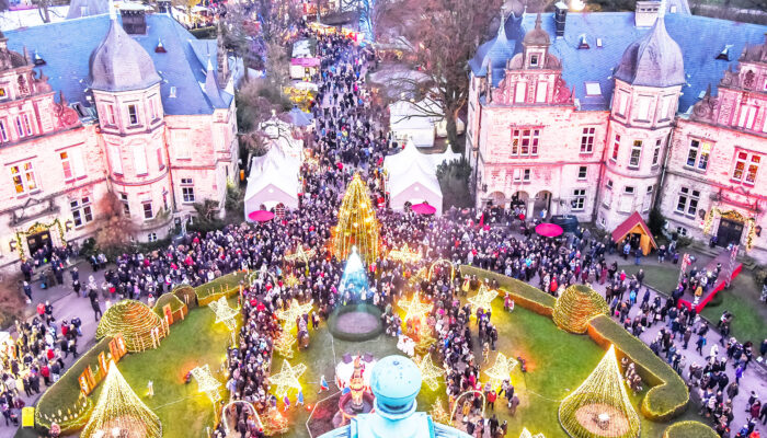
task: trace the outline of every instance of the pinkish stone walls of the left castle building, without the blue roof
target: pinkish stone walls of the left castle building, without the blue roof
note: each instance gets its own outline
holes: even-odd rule
[[[133,43],[116,19],[112,22],[110,32]],[[225,102],[216,90],[219,104],[210,113],[168,114],[167,99],[174,96],[163,94],[159,81],[136,89],[128,80],[118,81],[119,89],[88,90],[89,111],[68,104],[30,56],[8,49],[7,41],[0,38],[0,163],[10,184],[0,185],[5,199],[0,268],[13,268],[47,242],[82,243],[94,235],[108,210],[107,195],[122,201],[138,241],[168,235],[175,219],[194,214],[196,201],[213,199],[224,214],[227,184],[238,172],[233,99]],[[124,42],[110,47],[121,65],[124,47]],[[144,50],[137,44],[131,49]],[[226,57],[218,61],[228,62]],[[93,74],[93,65],[90,70]],[[228,67],[218,71],[213,83],[231,90]],[[108,79],[82,78],[91,83]]]

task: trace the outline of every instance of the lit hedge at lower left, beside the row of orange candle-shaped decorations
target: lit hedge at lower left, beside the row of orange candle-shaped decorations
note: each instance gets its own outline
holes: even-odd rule
[[[37,426],[45,427],[46,429],[50,427],[50,420],[46,419],[45,416],[55,417],[58,420],[58,425],[61,427],[61,435],[71,435],[82,429],[88,419],[91,416],[91,411],[93,411],[93,402],[90,397],[85,397],[87,408],[80,413],[80,415],[75,415],[75,413],[69,414],[68,410],[75,408],[76,404],[82,403],[80,400],[80,383],[78,378],[82,374],[82,371],[87,367],[98,367],[99,366],[99,355],[105,351],[108,356],[110,354],[110,342],[112,336],[105,336],[103,339],[99,341],[91,349],[83,353],[80,358],[69,367],[68,370],[61,374],[59,380],[48,388],[37,402],[35,407],[35,424]],[[98,376],[94,376],[96,379]],[[64,419],[64,416],[69,418]]]

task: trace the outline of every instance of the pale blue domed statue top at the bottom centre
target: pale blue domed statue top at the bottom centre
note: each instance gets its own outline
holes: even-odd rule
[[[456,428],[434,423],[424,412],[415,412],[421,370],[404,356],[387,356],[376,362],[370,389],[376,396],[375,412],[359,414],[351,424],[320,438],[471,438]]]

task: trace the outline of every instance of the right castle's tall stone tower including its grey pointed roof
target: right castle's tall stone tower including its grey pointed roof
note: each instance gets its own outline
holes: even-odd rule
[[[597,209],[602,228],[615,229],[633,211],[648,218],[685,82],[682,50],[666,32],[661,8],[615,72]]]

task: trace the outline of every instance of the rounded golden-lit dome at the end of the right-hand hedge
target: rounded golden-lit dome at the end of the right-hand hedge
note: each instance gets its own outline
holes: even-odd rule
[[[607,314],[609,308],[594,289],[584,285],[573,285],[554,303],[553,320],[558,327],[570,333],[585,333],[588,322],[600,314]]]

